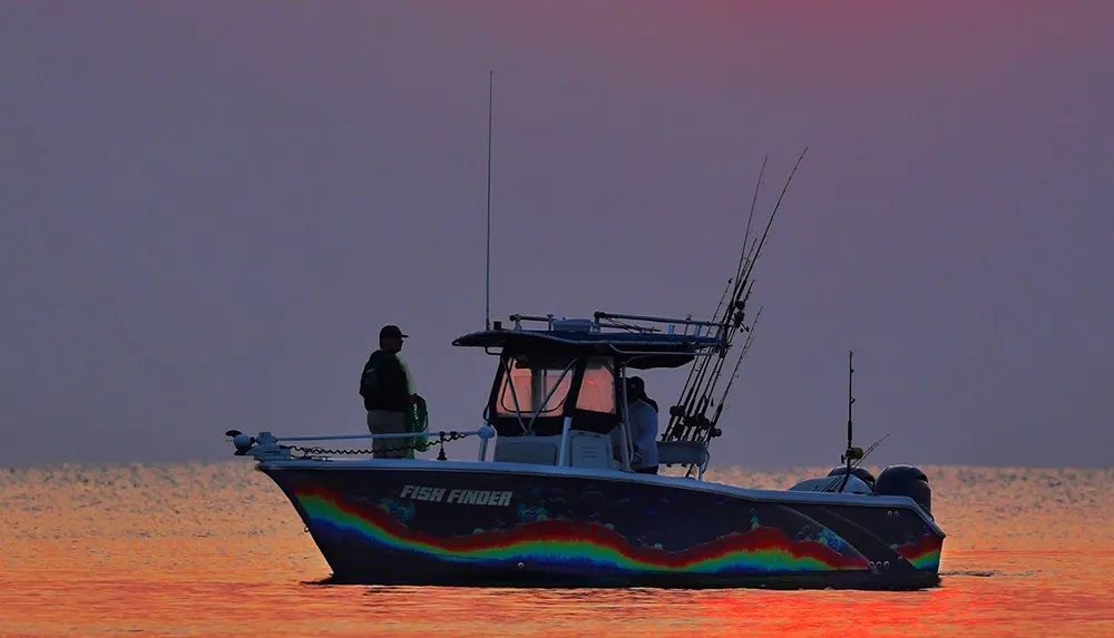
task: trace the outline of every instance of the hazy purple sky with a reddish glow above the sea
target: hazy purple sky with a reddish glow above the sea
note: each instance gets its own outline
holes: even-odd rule
[[[838,462],[854,349],[868,464],[1108,465],[1114,3],[931,4],[2,3],[0,465],[364,432],[383,323],[475,428],[488,70],[495,318],[710,314],[811,147],[714,463]]]

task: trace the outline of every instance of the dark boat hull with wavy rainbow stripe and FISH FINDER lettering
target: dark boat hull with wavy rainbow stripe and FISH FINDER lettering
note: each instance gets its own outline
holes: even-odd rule
[[[944,534],[910,499],[448,465],[260,469],[293,503],[333,582],[886,589],[938,582]]]

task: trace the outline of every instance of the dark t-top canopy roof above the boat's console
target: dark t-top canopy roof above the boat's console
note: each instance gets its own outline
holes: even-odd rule
[[[719,338],[691,334],[587,332],[576,330],[489,330],[457,337],[459,347],[501,347],[514,353],[561,352],[577,356],[609,356],[627,367],[681,367],[697,354],[714,351]]]

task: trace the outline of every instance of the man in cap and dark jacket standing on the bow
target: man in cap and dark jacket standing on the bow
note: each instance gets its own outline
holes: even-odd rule
[[[360,396],[368,411],[368,430],[372,434],[403,434],[407,432],[407,412],[417,403],[418,395],[410,391],[410,374],[399,357],[405,334],[397,325],[385,325],[379,331],[379,350],[371,353],[360,375]],[[372,458],[404,459],[411,439],[373,439]]]

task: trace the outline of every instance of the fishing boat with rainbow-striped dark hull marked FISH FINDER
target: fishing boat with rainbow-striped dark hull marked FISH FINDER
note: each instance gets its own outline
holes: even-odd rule
[[[928,479],[909,465],[885,468],[876,479],[861,465],[870,449],[852,445],[850,386],[847,449],[827,477],[785,490],[705,478],[726,394],[753,338],[753,267],[780,205],[781,197],[753,242],[749,218],[739,267],[710,320],[516,314],[511,325],[489,321],[458,337],[455,346],[481,349],[495,361],[476,429],[226,434],[235,454],[255,459],[293,504],[333,582],[934,586],[945,533],[932,517]],[[729,366],[739,334],[746,337]],[[627,381],[632,372],[685,367],[656,441],[666,471],[636,471]],[[368,458],[371,450],[321,446],[377,436],[438,454]],[[478,439],[477,458],[450,460],[444,444],[466,438]]]

